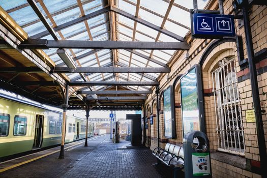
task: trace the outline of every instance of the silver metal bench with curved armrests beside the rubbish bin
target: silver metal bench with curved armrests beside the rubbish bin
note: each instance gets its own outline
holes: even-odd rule
[[[184,149],[179,145],[167,143],[165,150],[161,147],[156,147],[152,154],[167,166],[175,170],[184,169]]]

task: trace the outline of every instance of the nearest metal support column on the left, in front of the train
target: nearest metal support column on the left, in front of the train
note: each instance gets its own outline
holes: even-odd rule
[[[65,104],[62,105],[63,108],[63,121],[62,121],[62,137],[61,137],[61,150],[60,156],[58,158],[64,158],[64,143],[65,143],[65,135],[66,135],[66,112],[69,107],[69,85],[66,86],[66,95],[65,95]]]

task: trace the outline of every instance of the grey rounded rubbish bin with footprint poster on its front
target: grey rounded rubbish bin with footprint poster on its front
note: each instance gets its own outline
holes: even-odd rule
[[[200,131],[184,136],[185,177],[212,177],[210,142]]]

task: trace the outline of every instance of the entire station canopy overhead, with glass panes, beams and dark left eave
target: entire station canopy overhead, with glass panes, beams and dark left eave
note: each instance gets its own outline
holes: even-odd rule
[[[198,8],[207,6],[198,1]],[[0,0],[0,86],[69,109],[139,110],[188,50],[183,0]]]

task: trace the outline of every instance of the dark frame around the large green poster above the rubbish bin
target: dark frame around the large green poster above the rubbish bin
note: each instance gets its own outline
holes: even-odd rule
[[[203,100],[203,89],[202,89],[202,75],[201,75],[201,66],[199,64],[195,64],[191,67],[187,73],[185,73],[180,78],[181,83],[181,111],[182,111],[182,123],[183,123],[183,135],[184,133],[184,117],[183,117],[183,100],[182,100],[182,79],[193,69],[196,70],[196,87],[197,87],[197,105],[198,105],[198,116],[199,116],[199,129],[201,132],[206,133],[205,128],[205,115],[204,115],[204,100]]]

